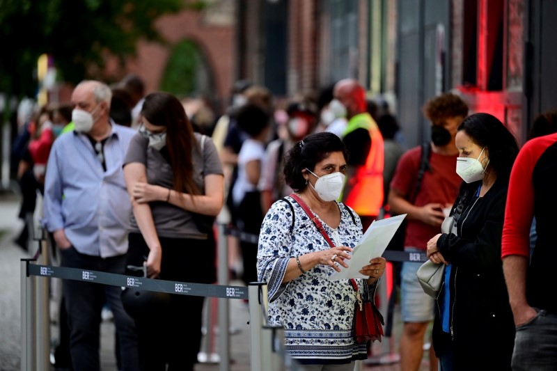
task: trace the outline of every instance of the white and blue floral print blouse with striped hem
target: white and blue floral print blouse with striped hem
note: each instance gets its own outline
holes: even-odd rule
[[[332,267],[316,265],[299,278],[282,283],[290,258],[330,248],[301,206],[287,197],[276,201],[261,225],[257,256],[258,280],[267,282],[269,325],[285,329],[285,349],[303,364],[341,364],[367,358],[366,343],[352,338],[356,294],[350,280],[329,281]],[[331,239],[354,247],[361,239],[359,216],[338,203],[340,225],[333,230],[322,224]],[[317,216],[318,218],[318,216]],[[292,232],[291,231],[292,228]],[[337,237],[336,236],[336,237]],[[364,280],[356,280],[368,297]]]

